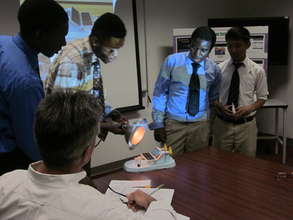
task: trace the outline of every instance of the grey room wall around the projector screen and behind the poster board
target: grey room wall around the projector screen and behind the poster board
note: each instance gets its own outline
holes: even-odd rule
[[[289,16],[291,23],[293,19],[293,2],[282,0],[282,4],[275,0],[246,0],[239,2],[235,0],[137,0],[139,7],[139,35],[140,55],[142,62],[143,88],[151,96],[153,85],[164,58],[172,51],[173,28],[190,28],[198,25],[206,25],[208,18],[224,17],[267,17],[267,16]],[[0,33],[15,33],[17,0],[2,0],[0,7]],[[144,14],[145,13],[145,14]],[[145,17],[145,20],[144,20]],[[282,33],[280,33],[282,34]],[[290,42],[292,36],[290,35]],[[145,50],[146,48],[146,50]],[[293,138],[293,130],[289,125],[293,123],[293,81],[291,77],[292,44],[289,48],[289,65],[271,67],[268,73],[268,83],[271,98],[280,99],[289,104],[287,117],[287,134]],[[146,74],[147,73],[147,74]],[[109,92],[109,91],[108,91]],[[146,110],[129,114],[132,119],[146,117],[149,121],[151,105],[144,98]],[[259,127],[261,131],[272,132],[270,111],[261,112],[259,116]],[[139,152],[152,149],[156,143],[151,131],[147,132],[145,139],[133,151],[129,151],[122,136],[110,135],[105,143],[95,151],[92,167],[120,160]]]

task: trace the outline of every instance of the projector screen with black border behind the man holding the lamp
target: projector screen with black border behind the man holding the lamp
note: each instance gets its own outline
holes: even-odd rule
[[[22,3],[23,0],[20,1]],[[95,20],[106,12],[117,14],[125,23],[127,35],[118,57],[110,64],[102,64],[104,93],[108,104],[121,111],[144,109],[142,105],[141,75],[135,0],[57,0],[69,17],[67,42],[89,36]],[[50,63],[39,56],[42,80]]]

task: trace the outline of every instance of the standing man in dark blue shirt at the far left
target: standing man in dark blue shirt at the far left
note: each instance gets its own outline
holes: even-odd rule
[[[44,97],[37,55],[57,53],[68,31],[67,14],[54,0],[25,0],[17,16],[20,33],[0,36],[0,174],[40,159],[33,135]]]

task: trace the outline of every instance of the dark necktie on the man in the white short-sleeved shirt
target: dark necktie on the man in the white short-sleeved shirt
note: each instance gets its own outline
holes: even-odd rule
[[[229,87],[229,96],[227,105],[234,104],[235,108],[238,107],[238,99],[239,99],[239,85],[240,85],[240,78],[238,68],[243,65],[243,63],[233,63],[235,69],[232,75],[230,87]]]

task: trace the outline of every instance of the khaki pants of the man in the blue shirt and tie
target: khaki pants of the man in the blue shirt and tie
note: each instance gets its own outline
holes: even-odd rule
[[[166,144],[172,147],[174,155],[208,146],[209,123],[207,121],[180,122],[166,119],[165,129]]]

